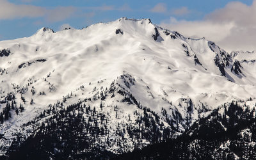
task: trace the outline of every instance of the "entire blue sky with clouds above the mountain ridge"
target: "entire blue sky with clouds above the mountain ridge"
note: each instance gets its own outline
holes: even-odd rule
[[[256,50],[256,0],[0,0],[0,40],[31,36],[42,27],[81,29],[120,17],[149,18],[228,52]]]

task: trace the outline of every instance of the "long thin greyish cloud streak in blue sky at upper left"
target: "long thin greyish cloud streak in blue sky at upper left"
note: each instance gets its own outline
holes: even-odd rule
[[[29,3],[36,0],[20,0],[23,3]],[[88,12],[88,10],[92,12]],[[124,4],[120,8],[115,6],[89,6],[89,7],[74,7],[74,6],[58,6],[54,8],[47,8],[41,6],[34,6],[29,4],[15,4],[8,0],[0,0],[0,20],[12,20],[22,18],[43,18],[48,22],[58,22],[68,19],[72,16],[76,17],[92,17],[95,12],[108,11],[128,11],[131,10],[128,4]],[[86,13],[85,13],[86,12]],[[42,21],[40,21],[42,22]],[[39,24],[37,20],[35,25]]]

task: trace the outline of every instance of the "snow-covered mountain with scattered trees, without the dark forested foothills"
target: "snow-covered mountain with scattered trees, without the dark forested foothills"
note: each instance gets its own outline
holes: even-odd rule
[[[1,153],[70,108],[99,128],[84,132],[95,147],[113,153],[176,136],[224,103],[255,99],[255,60],[254,52],[228,53],[150,19],[2,41]]]

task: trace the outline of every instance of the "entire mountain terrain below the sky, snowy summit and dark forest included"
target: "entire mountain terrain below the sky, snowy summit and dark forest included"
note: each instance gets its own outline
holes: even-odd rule
[[[1,41],[1,157],[255,159],[255,61],[150,19]]]

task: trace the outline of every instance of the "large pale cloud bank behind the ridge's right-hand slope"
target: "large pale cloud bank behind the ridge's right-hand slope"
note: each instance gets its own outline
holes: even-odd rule
[[[256,0],[248,6],[228,3],[205,16],[203,20],[163,20],[160,26],[179,31],[185,36],[200,36],[216,42],[226,51],[256,50]]]

